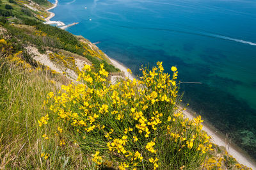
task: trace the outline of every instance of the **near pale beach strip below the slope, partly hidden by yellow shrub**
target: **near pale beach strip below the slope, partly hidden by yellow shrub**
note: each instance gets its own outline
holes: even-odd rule
[[[106,56],[108,55],[106,54]],[[128,68],[127,66],[124,66],[122,63],[119,63],[115,59],[109,58],[109,56],[108,56],[108,59],[109,61],[111,61],[111,63],[114,66],[116,66],[116,68],[119,68],[122,72],[125,73],[125,77],[129,77],[129,79],[131,80],[137,79],[136,76],[127,72],[127,68]],[[182,109],[182,108],[183,106],[179,107],[179,109]],[[189,118],[189,120],[193,120],[193,118],[198,116],[198,114],[196,113],[193,114],[193,110],[189,108],[186,108],[186,110],[183,111],[183,114],[186,118]],[[209,121],[204,120],[202,125],[203,125],[202,130],[204,130],[205,132],[207,132],[208,135],[211,136],[212,143],[217,144],[218,146],[224,146],[228,154],[236,158],[239,164],[243,164],[244,166],[251,167],[252,169],[256,170],[256,162],[250,157],[250,155],[248,155],[248,153],[246,153],[244,150],[239,148],[239,146],[237,146],[234,143],[228,144],[227,137],[225,137],[224,134],[216,130],[216,128],[213,125],[211,125]]]

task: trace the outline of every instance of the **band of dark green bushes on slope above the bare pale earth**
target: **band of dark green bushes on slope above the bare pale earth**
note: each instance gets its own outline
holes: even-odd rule
[[[119,71],[115,66],[109,65],[108,59],[104,57],[104,54],[101,51],[101,54],[100,52],[95,52],[86,45],[86,43],[80,42],[78,38],[71,33],[58,27],[42,24],[42,22],[37,22],[36,20],[24,19],[23,22],[26,26],[31,27],[20,29],[21,27],[15,25],[4,25],[13,39],[19,39],[22,42],[19,42],[20,44],[29,45],[32,43],[33,45],[36,45],[40,52],[45,52],[47,47],[64,49],[84,56],[93,63],[96,70],[99,70],[100,64],[104,63],[108,72]],[[38,32],[43,34],[38,34]]]

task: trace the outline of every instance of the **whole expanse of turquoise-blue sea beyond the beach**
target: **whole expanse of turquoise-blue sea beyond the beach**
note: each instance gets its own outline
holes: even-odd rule
[[[59,0],[51,12],[135,75],[163,61],[202,82],[182,84],[184,102],[256,159],[256,1]]]

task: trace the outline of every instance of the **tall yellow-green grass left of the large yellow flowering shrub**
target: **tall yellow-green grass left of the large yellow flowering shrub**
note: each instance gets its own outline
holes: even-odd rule
[[[46,132],[38,127],[37,121],[48,112],[42,107],[47,93],[56,91],[51,78],[45,71],[28,72],[20,66],[10,66],[1,55],[0,169],[81,169],[88,165],[87,158],[74,144],[61,148],[58,136],[42,138]],[[51,129],[49,125],[45,130]],[[47,160],[41,157],[45,150],[51,156]],[[92,164],[90,167],[93,169]]]

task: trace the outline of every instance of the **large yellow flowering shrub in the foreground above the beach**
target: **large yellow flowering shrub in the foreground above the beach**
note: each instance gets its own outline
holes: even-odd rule
[[[49,93],[49,118],[58,122],[60,133],[60,123],[68,127],[73,136],[67,141],[76,139],[98,166],[113,162],[119,169],[199,167],[212,145],[202,131],[201,117],[184,119],[179,110],[177,68],[173,66],[170,75],[157,62],[152,70],[141,71],[138,81],[126,78],[111,84],[104,65],[99,72],[85,65],[80,83]],[[39,125],[47,124],[45,117]],[[63,139],[60,145],[65,145]]]

